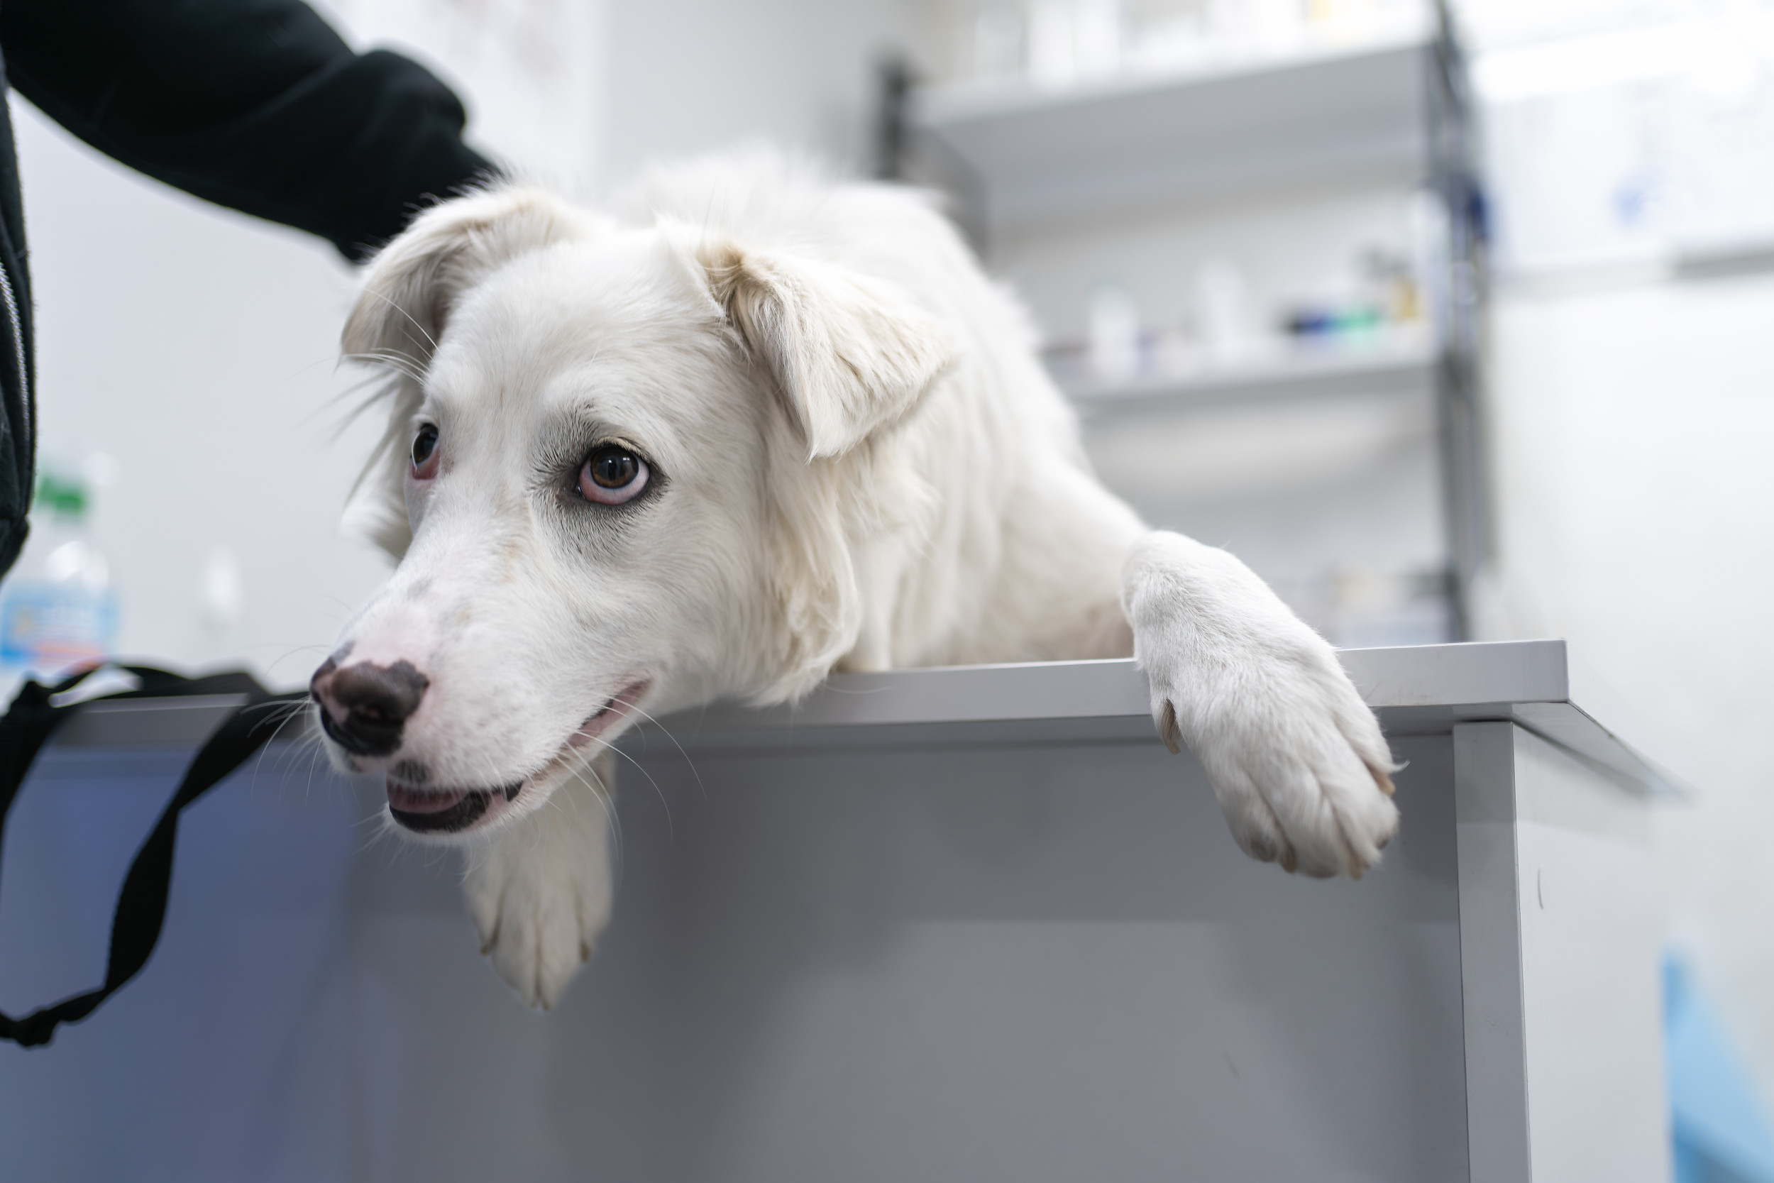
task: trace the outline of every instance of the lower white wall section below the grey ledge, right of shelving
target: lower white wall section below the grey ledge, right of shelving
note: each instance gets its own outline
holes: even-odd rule
[[[1497,302],[1503,637],[1566,637],[1696,787],[1669,931],[1774,1098],[1774,277]]]

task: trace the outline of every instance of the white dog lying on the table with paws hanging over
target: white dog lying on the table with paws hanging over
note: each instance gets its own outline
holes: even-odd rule
[[[1251,857],[1359,876],[1396,828],[1330,646],[1096,482],[928,195],[717,158],[623,218],[461,197],[374,261],[344,349],[399,371],[367,475],[401,562],[314,699],[396,823],[467,848],[530,1006],[610,913],[612,736],[830,670],[1132,653]]]

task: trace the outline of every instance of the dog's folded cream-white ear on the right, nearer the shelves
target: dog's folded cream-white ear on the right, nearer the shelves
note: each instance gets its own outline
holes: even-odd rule
[[[905,415],[953,349],[901,287],[836,262],[703,243],[715,302],[775,378],[807,458],[843,456]]]

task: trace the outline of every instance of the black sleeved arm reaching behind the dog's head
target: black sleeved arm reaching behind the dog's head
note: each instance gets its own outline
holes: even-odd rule
[[[300,0],[0,0],[12,85],[131,168],[357,261],[493,167],[417,62]]]

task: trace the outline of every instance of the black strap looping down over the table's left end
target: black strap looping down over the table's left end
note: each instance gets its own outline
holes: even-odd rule
[[[154,823],[153,834],[147,835],[135,862],[130,864],[130,874],[122,881],[122,890],[117,892],[117,910],[112,913],[105,984],[62,999],[23,1018],[0,1013],[0,1039],[12,1039],[27,1048],[48,1043],[60,1023],[75,1023],[90,1015],[140,972],[149,954],[154,952],[161,922],[167,919],[167,892],[172,887],[172,848],[179,834],[179,812],[239,768],[277,733],[279,722],[286,717],[286,711],[277,709],[279,706],[294,706],[309,697],[305,692],[273,695],[243,672],[181,678],[145,665],[117,669],[135,674],[140,686],[103,695],[110,701],[245,693],[247,704],[229,715],[227,722],[216,727],[199,748],[197,757],[184,770],[179,791],[172,795],[160,821]],[[53,706],[50,699],[73,690],[90,674],[90,669],[82,670],[55,686],[27,681],[25,688],[12,699],[5,718],[0,718],[0,848],[5,842],[5,816],[12,809],[12,798],[18,796],[32,761],[55,729],[85,706],[83,702]]]

